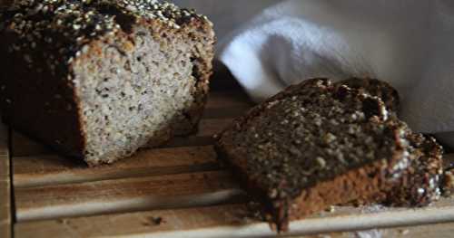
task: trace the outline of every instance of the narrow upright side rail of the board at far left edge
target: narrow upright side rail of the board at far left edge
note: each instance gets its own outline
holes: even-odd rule
[[[11,183],[8,131],[0,123],[0,237],[11,236]]]

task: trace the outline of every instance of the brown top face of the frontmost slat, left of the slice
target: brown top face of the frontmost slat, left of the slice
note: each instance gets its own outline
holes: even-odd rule
[[[54,237],[132,237],[153,234],[159,237],[160,233],[241,225],[244,221],[239,217],[244,216],[244,211],[244,205],[222,205],[27,222],[15,224],[15,234],[16,237],[35,238],[47,238],[49,234],[54,234]],[[158,218],[162,219],[161,224],[155,223]]]

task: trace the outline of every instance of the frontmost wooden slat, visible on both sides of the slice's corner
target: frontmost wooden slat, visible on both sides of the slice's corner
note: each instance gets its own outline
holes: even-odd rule
[[[443,199],[421,209],[388,209],[365,212],[370,207],[343,207],[334,213],[321,213],[291,223],[292,235],[339,233],[419,224],[454,221],[454,199]],[[94,237],[274,237],[269,225],[248,218],[244,205],[222,205],[191,209],[163,210],[130,214],[20,223],[15,225],[18,237],[55,236]],[[157,218],[161,224],[155,224]],[[409,228],[410,229],[410,228]],[[334,236],[336,237],[336,236]],[[365,236],[362,236],[365,237]],[[433,237],[433,236],[432,236]]]

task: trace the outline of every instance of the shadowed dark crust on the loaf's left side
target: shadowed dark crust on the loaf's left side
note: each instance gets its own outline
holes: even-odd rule
[[[13,128],[23,131],[69,157],[84,157],[84,137],[81,123],[76,117],[77,103],[74,100],[74,85],[62,81],[68,74],[61,68],[52,74],[26,67],[24,53],[8,52],[7,46],[16,43],[15,35],[4,33],[0,43],[0,106],[3,120]],[[46,49],[44,49],[46,51]],[[40,62],[45,55],[27,52]]]

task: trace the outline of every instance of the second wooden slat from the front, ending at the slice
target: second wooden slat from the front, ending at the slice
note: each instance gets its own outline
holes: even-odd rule
[[[229,203],[243,193],[227,172],[147,176],[15,189],[18,221]]]

